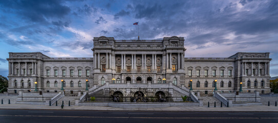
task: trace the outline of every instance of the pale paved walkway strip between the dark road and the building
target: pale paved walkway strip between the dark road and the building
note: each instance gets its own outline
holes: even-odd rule
[[[114,108],[94,106],[41,106],[24,104],[0,104],[0,109],[27,109],[27,110],[119,110],[119,111],[256,111],[256,112],[278,112],[275,106],[252,106],[252,107],[165,107],[165,108]]]

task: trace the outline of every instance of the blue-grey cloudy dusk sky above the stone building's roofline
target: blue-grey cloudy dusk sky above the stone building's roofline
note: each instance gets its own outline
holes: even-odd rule
[[[92,39],[184,37],[186,57],[270,52],[278,76],[278,1],[0,1],[0,75],[8,52],[92,57]]]

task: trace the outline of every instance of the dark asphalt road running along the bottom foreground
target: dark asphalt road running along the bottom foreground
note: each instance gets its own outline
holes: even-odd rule
[[[278,112],[0,110],[0,122],[278,122]]]

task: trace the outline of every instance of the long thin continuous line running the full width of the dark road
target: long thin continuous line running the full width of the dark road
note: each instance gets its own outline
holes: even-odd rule
[[[102,117],[102,116],[43,116],[43,115],[0,115],[13,117],[67,117],[67,118],[143,118],[143,119],[260,119],[259,117]],[[278,119],[264,117],[262,119]]]

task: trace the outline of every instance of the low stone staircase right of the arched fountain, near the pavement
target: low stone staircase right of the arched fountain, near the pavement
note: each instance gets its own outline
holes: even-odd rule
[[[214,107],[214,102],[216,102],[216,107],[220,107],[221,101],[213,96],[198,96],[199,99],[203,99],[203,107],[208,107],[208,102],[210,102],[210,107]],[[222,104],[222,107],[226,107]]]

